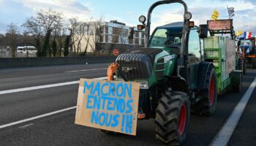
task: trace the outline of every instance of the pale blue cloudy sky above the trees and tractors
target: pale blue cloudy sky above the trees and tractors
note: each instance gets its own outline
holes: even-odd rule
[[[104,18],[118,20],[129,26],[138,24],[138,17],[146,15],[148,7],[157,0],[0,0],[0,33],[7,30],[7,25],[15,23],[21,26],[26,18],[35,15],[39,9],[52,8],[63,12],[64,18]],[[197,25],[211,19],[215,8],[219,11],[219,19],[228,18],[227,6],[234,7],[236,31],[252,31],[256,35],[256,0],[185,0],[189,12],[192,12]],[[180,4],[166,5],[153,12],[152,26],[182,20],[183,8]]]

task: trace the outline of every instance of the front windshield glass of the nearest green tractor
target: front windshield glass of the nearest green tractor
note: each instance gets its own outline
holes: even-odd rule
[[[149,47],[181,47],[182,28],[157,28]]]

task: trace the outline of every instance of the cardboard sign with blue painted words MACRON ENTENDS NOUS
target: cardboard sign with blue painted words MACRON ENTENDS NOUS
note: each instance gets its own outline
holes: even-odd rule
[[[75,123],[136,135],[138,82],[80,79]]]

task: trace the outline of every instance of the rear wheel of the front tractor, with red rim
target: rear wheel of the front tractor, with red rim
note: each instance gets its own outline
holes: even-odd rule
[[[201,99],[192,105],[193,112],[211,116],[217,105],[217,74],[214,66],[210,66],[206,74],[206,88],[200,93]]]

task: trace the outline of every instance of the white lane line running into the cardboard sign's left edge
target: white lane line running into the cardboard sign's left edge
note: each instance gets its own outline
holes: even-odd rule
[[[58,114],[59,112],[65,112],[65,111],[67,111],[67,110],[73,110],[73,109],[75,109],[75,108],[76,108],[76,106],[75,106],[75,107],[69,107],[69,108],[67,108],[67,109],[57,110],[57,111],[55,111],[55,112],[49,112],[49,113],[47,113],[47,114],[38,115],[38,116],[35,116],[35,117],[32,117],[32,118],[27,118],[27,119],[24,119],[24,120],[18,120],[18,121],[16,121],[16,122],[7,123],[7,124],[4,124],[4,125],[0,126],[0,129],[1,129],[1,128],[7,128],[7,127],[10,127],[10,126],[15,126],[15,125],[17,125],[17,124],[19,124],[19,123],[28,122],[28,121],[30,121],[30,120],[36,120],[36,119],[39,119],[39,118],[44,118],[44,117],[49,116],[49,115]]]

